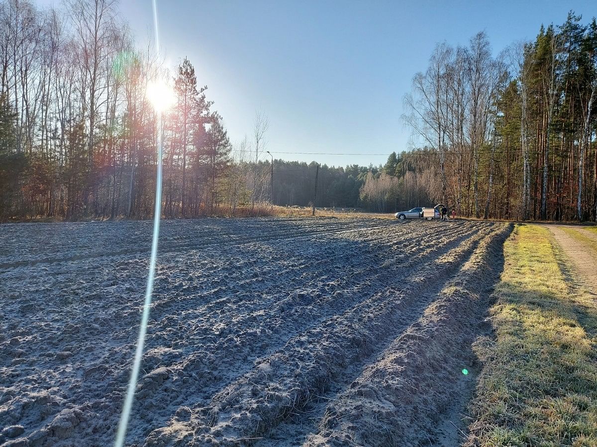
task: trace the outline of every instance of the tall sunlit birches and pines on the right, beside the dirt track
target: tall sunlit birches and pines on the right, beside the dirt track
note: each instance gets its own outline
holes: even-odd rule
[[[493,57],[485,33],[436,46],[404,98],[432,195],[460,215],[597,217],[597,24],[573,12]],[[429,154],[429,152],[431,154]]]

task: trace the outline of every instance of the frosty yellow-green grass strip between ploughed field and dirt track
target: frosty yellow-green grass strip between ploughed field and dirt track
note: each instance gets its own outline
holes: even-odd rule
[[[567,281],[549,230],[517,225],[491,308],[495,339],[469,411],[469,445],[597,445],[597,304]]]

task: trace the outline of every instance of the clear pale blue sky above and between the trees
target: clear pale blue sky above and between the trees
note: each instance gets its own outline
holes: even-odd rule
[[[224,117],[233,141],[250,134],[256,109],[269,117],[267,148],[286,160],[383,163],[408,149],[402,97],[437,42],[466,45],[480,30],[494,52],[533,39],[569,10],[587,22],[594,1],[158,0],[162,51],[185,56]],[[120,10],[140,43],[150,0]],[[359,156],[303,155],[359,153]],[[380,154],[380,155],[376,155]]]

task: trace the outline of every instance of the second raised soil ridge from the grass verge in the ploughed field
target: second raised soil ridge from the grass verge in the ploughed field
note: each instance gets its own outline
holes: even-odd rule
[[[377,349],[401,314],[411,310],[425,281],[441,282],[450,275],[491,231],[485,230],[421,268],[406,284],[390,283],[349,311],[304,331],[214,396],[210,406],[192,410],[188,423],[173,421],[167,429],[153,432],[147,445],[176,439],[232,445],[239,437],[257,437],[275,426],[309,402],[313,393],[321,393],[347,365]],[[174,436],[173,426],[179,429]],[[195,429],[189,431],[189,426]]]

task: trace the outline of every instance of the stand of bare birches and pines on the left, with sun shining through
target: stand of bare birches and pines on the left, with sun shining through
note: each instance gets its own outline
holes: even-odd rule
[[[1,1],[0,66],[0,219],[150,216],[158,117],[147,86],[156,79],[176,96],[163,116],[164,216],[266,201],[265,174],[245,160],[251,142],[233,156],[190,61],[165,71],[115,1],[66,0],[59,10]],[[267,119],[258,118],[259,151]]]

